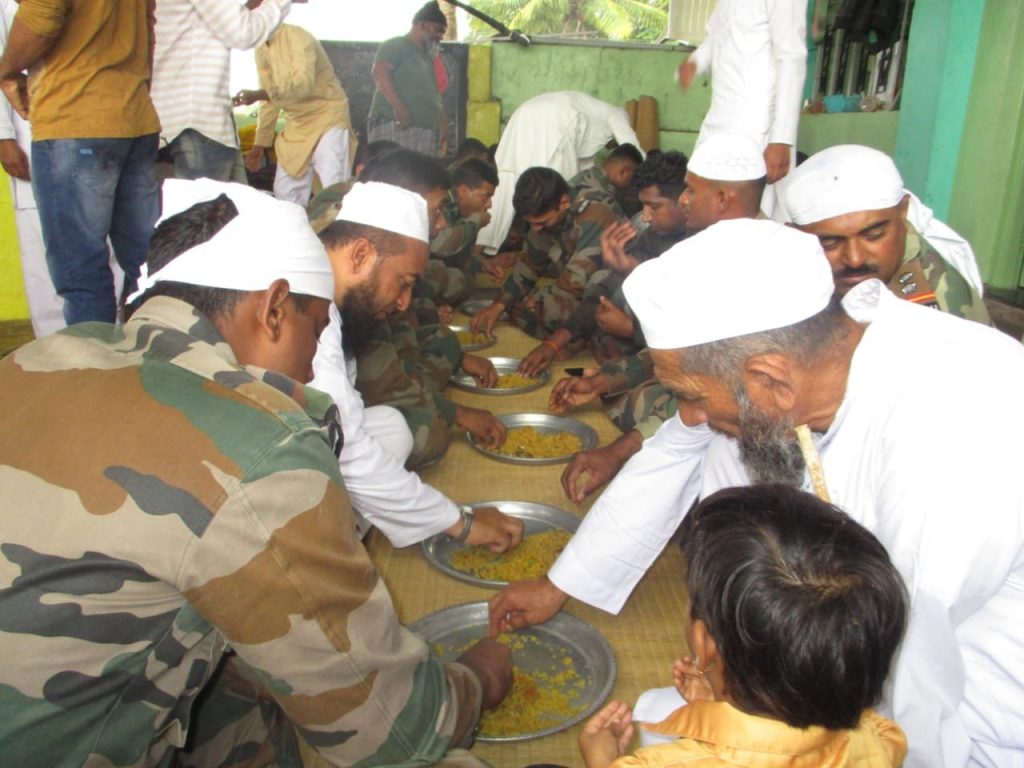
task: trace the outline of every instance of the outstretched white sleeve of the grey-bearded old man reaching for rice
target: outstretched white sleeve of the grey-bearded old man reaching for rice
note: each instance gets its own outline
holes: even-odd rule
[[[669,419],[587,513],[548,578],[563,592],[617,613],[697,496],[707,426]]]

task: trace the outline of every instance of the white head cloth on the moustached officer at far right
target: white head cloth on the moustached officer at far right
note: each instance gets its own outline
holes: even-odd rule
[[[795,224],[899,205],[906,195],[892,158],[860,144],[815,153],[786,177],[785,206]]]

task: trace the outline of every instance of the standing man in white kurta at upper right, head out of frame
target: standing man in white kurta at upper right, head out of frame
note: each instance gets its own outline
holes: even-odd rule
[[[697,144],[716,133],[750,136],[765,152],[769,184],[785,176],[796,155],[806,30],[806,0],[719,0],[707,37],[679,68],[684,88],[711,75]],[[766,190],[762,207],[769,214],[774,199]]]

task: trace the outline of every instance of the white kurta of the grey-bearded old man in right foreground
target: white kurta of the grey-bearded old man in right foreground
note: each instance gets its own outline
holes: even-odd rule
[[[886,701],[906,765],[1024,765],[1024,347],[878,281],[844,304],[870,325],[818,449],[834,503],[910,593]],[[672,419],[644,444],[555,563],[558,587],[617,610],[697,486],[745,482],[734,442],[703,432]]]

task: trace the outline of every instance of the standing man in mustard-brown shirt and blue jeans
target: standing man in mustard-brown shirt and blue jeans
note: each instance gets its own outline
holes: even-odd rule
[[[151,6],[23,0],[0,57],[0,88],[32,123],[33,189],[69,325],[115,321],[108,240],[131,292],[160,213]]]

